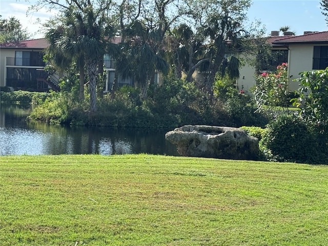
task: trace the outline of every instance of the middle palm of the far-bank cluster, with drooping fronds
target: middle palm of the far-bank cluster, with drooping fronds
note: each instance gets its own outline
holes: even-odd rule
[[[135,85],[141,88],[141,98],[146,98],[155,71],[168,71],[164,60],[165,37],[183,15],[186,8],[182,4],[183,1],[179,0],[123,0],[120,5],[122,51],[126,57],[119,58],[116,71],[122,76],[130,74],[135,78]]]

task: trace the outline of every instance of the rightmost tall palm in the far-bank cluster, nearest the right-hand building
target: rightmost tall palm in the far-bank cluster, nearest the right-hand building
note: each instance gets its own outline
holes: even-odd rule
[[[204,89],[213,95],[213,82],[217,72],[230,72],[238,77],[238,53],[245,51],[246,40],[254,38],[244,28],[246,11],[250,0],[187,0],[191,20],[199,34],[204,36],[206,52],[197,64],[190,68],[192,74],[197,68],[207,74]],[[248,48],[247,48],[248,49]],[[228,69],[226,69],[228,67]]]

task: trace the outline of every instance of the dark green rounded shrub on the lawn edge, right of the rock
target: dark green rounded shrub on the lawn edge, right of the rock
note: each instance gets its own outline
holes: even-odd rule
[[[279,115],[267,125],[260,145],[269,160],[327,163],[316,133],[295,115]]]

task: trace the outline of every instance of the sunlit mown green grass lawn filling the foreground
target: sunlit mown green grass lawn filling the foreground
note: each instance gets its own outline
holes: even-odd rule
[[[328,166],[2,156],[0,245],[328,245]]]

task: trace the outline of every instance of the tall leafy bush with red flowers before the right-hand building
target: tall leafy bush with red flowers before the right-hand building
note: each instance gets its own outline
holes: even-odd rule
[[[282,63],[274,73],[264,72],[257,76],[253,93],[258,111],[263,110],[263,107],[266,106],[288,107],[289,81],[287,67],[286,63]]]

